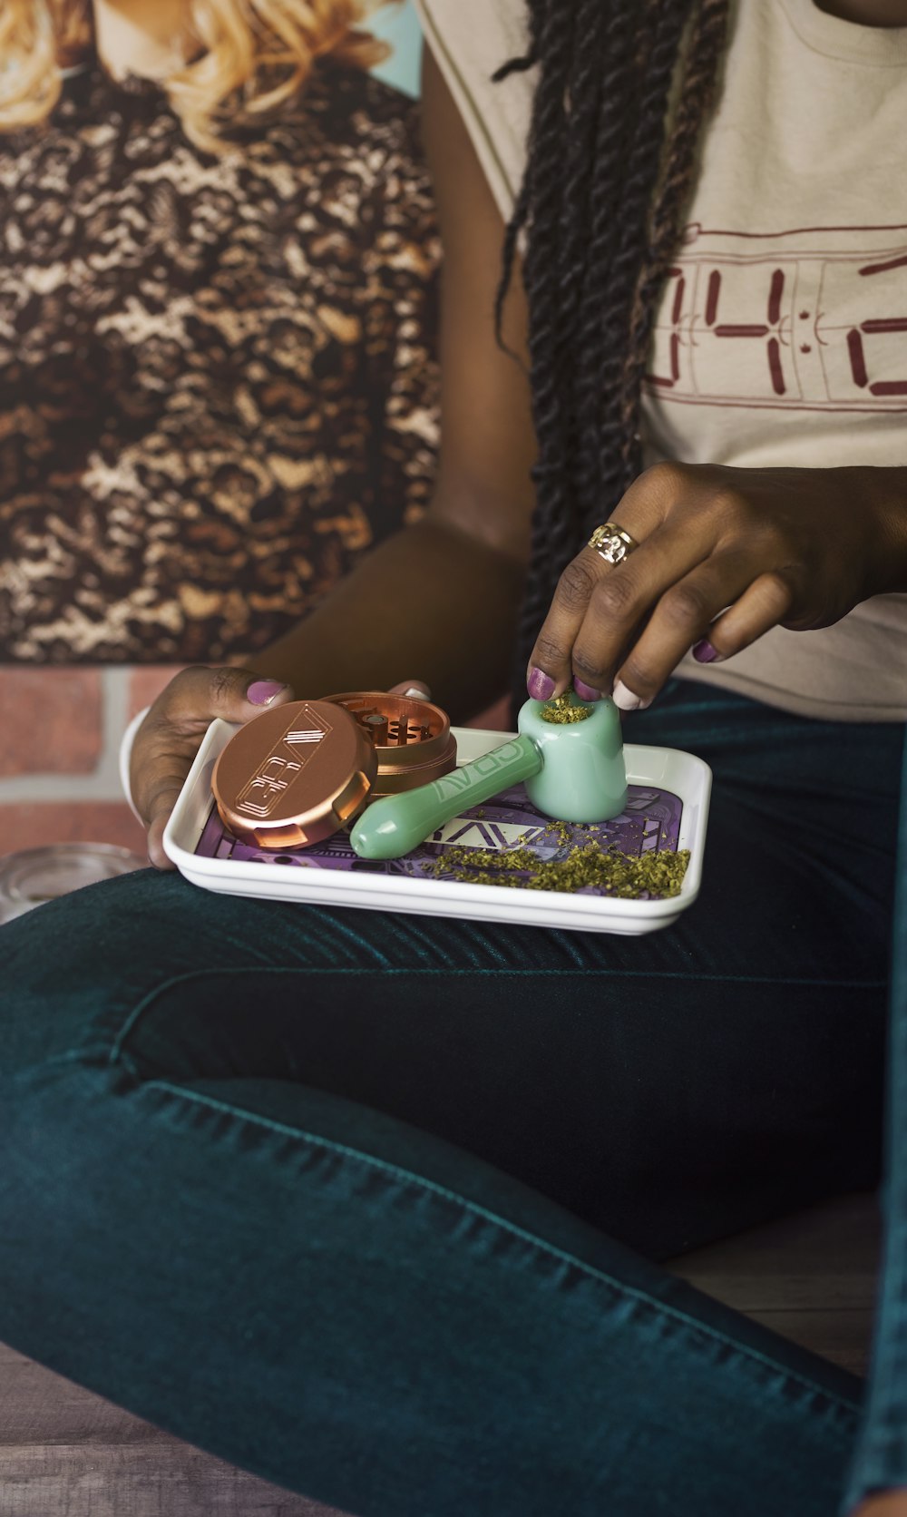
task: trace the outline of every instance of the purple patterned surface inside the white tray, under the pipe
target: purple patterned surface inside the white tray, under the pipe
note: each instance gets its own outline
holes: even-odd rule
[[[540,816],[532,810],[526,790],[522,784],[510,790],[502,790],[493,801],[475,806],[447,822],[420,848],[413,850],[403,859],[370,862],[359,859],[350,848],[347,831],[335,833],[334,837],[315,848],[300,848],[296,853],[265,853],[240,843],[226,831],[217,810],[211,812],[205,830],[196,846],[196,854],[203,859],[232,859],[241,863],[279,863],[297,869],[344,869],[355,874],[393,874],[410,875],[411,878],[452,880],[452,874],[437,871],[437,860],[443,857],[446,848],[476,850],[476,868],[482,866],[482,853],[504,853],[511,848],[531,848],[537,859],[563,859],[576,843],[595,840],[602,848],[616,843],[622,853],[639,856],[652,848],[670,848],[676,853],[683,802],[670,790],[657,790],[651,786],[631,784],[628,790],[626,809],[610,822],[567,824],[570,830],[569,842],[560,842],[554,834],[548,834],[551,818]],[[513,878],[513,877],[511,877]],[[584,886],[576,895],[607,895],[598,886]]]

